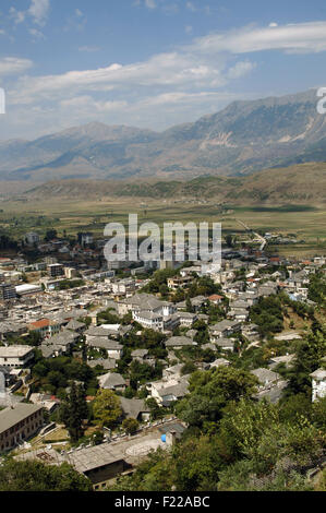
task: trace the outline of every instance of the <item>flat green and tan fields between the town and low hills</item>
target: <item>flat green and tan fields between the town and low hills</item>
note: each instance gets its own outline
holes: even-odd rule
[[[100,200],[49,199],[43,201],[3,201],[0,203],[0,229],[19,238],[28,230],[45,234],[56,228],[59,235],[92,231],[101,237],[107,223],[128,225],[128,214],[138,214],[138,223],[155,222],[220,222],[224,235],[244,234],[237,220],[254,230],[294,235],[301,242],[277,246],[281,254],[297,256],[324,253],[326,248],[325,206],[234,206],[215,204],[213,201],[102,198]],[[273,248],[271,248],[273,249]]]

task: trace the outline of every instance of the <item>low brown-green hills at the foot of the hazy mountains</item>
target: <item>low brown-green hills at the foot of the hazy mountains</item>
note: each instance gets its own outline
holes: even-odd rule
[[[326,163],[266,169],[246,177],[205,176],[180,180],[60,180],[29,190],[32,198],[96,199],[130,196],[142,199],[196,199],[234,204],[323,204]]]

